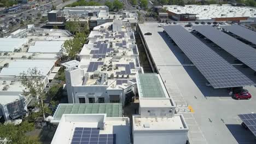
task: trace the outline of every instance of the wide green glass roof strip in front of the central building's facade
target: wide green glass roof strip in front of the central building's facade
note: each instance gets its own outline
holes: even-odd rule
[[[120,103],[94,103],[94,104],[59,104],[54,113],[54,120],[60,120],[63,114],[91,114],[106,113],[107,117],[122,117],[122,104]]]

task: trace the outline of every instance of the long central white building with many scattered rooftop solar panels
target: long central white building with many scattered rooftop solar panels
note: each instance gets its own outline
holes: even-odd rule
[[[127,30],[127,32],[126,32]],[[129,29],[91,31],[80,62],[67,62],[69,103],[122,103],[136,93],[138,63],[134,34]]]

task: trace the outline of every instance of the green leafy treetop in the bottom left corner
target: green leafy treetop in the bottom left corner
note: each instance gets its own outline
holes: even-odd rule
[[[34,124],[27,121],[20,125],[14,124],[0,124],[0,137],[7,138],[7,144],[39,144],[38,137],[31,137],[25,135],[26,132],[34,130]]]

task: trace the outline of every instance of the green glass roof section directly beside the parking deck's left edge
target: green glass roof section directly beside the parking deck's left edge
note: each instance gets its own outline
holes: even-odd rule
[[[164,87],[159,81],[159,77],[154,73],[139,74],[137,85],[139,97],[143,98],[165,98]]]

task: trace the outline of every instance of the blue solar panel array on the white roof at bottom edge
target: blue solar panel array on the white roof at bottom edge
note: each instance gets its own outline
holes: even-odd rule
[[[71,144],[115,144],[115,134],[100,134],[99,128],[75,128]]]

